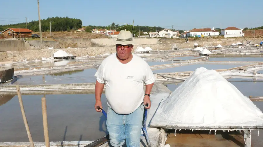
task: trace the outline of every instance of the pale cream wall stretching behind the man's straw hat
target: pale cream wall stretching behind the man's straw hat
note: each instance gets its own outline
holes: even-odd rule
[[[105,45],[105,46],[114,46],[116,43],[114,42],[117,38],[96,38],[96,39],[91,39],[95,43],[98,43],[100,45]],[[134,38],[134,45],[138,44],[157,44],[158,41],[156,38]]]

